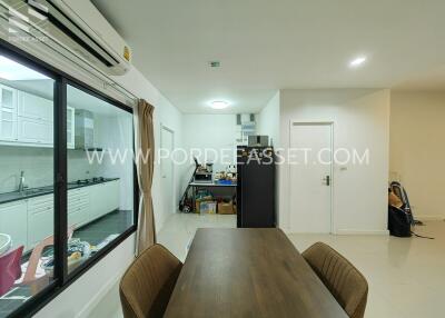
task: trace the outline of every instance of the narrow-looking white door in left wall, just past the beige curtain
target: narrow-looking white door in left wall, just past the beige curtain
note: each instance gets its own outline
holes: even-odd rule
[[[174,140],[174,131],[162,127],[161,128],[161,137],[160,137],[160,143],[161,143],[161,150],[162,152],[162,158],[160,161],[160,170],[161,170],[161,178],[162,178],[162,191],[164,193],[167,193],[164,196],[164,211],[167,213],[174,213],[175,212],[175,191],[174,191],[174,161],[171,156],[167,157],[167,153],[171,153],[174,151],[175,147],[175,140]]]

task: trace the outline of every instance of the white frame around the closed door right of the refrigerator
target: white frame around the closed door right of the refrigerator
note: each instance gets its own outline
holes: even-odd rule
[[[336,226],[336,213],[335,213],[335,169],[334,169],[334,149],[335,149],[335,145],[334,145],[334,126],[335,126],[335,121],[334,120],[297,120],[297,119],[290,119],[289,120],[289,129],[288,129],[288,147],[290,148],[291,146],[291,129],[294,126],[328,126],[330,128],[330,149],[332,149],[332,165],[330,165],[330,232],[329,233],[337,233],[337,226]],[[287,163],[287,176],[288,180],[287,180],[287,188],[288,191],[290,192],[291,189],[291,178],[290,178],[290,169],[291,169],[291,165]],[[287,198],[287,207],[288,207],[288,216],[289,216],[289,229],[291,226],[291,196],[289,193],[288,198]]]

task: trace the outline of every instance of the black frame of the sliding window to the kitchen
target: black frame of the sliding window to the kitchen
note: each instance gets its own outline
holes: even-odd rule
[[[67,259],[67,229],[68,229],[68,188],[67,188],[67,88],[75,87],[88,95],[99,98],[121,110],[134,113],[134,109],[100,90],[78,80],[77,78],[61,71],[60,69],[38,59],[22,49],[0,39],[0,54],[10,58],[30,69],[33,69],[55,80],[53,93],[53,183],[55,183],[55,278],[50,284],[29,300],[24,301],[8,318],[31,317],[48,305],[52,299],[78,280],[85,272],[91,269],[98,261],[116,249],[128,237],[136,232],[138,226],[139,210],[139,186],[136,162],[134,162],[134,223],[126,231],[113,239],[109,245],[99,250],[95,256],[87,259],[72,272],[68,274]],[[135,140],[135,126],[132,126],[132,138]],[[135,142],[132,142],[135,147]],[[134,149],[135,150],[135,149]],[[136,153],[136,152],[135,152]]]

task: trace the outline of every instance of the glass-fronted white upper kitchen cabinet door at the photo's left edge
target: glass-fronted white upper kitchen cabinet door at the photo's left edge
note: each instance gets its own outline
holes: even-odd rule
[[[0,85],[0,140],[17,140],[17,90]]]

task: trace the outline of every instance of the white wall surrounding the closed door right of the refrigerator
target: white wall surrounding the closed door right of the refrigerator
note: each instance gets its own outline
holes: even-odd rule
[[[280,91],[280,143],[289,123],[334,121],[334,149],[369,148],[368,166],[334,168],[334,232],[386,233],[389,156],[389,91],[365,89]],[[289,228],[289,166],[279,166],[279,226]]]

